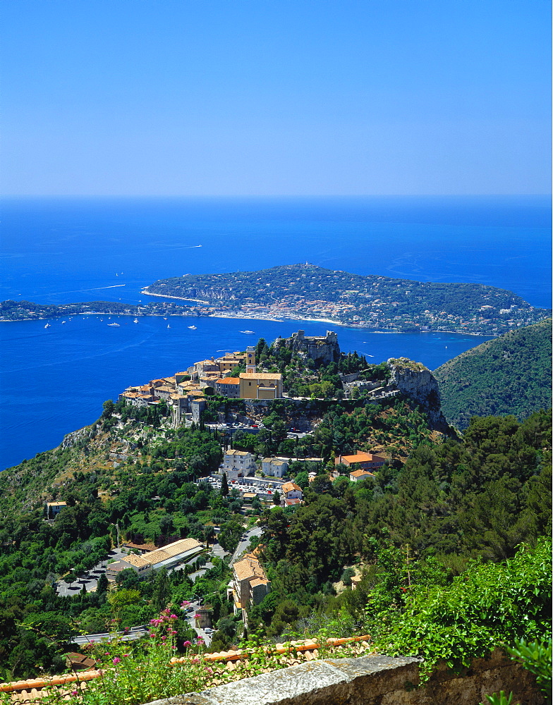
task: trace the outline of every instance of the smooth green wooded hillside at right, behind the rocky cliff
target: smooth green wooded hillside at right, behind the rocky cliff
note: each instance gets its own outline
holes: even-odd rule
[[[551,406],[551,319],[505,333],[434,372],[448,422],[466,429],[472,416],[515,415]]]

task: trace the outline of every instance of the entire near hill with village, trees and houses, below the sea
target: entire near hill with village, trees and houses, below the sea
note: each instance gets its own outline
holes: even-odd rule
[[[1,677],[141,658],[160,613],[183,658],[252,635],[379,639],[382,625],[385,649],[408,600],[456,585],[475,602],[471,634],[490,584],[494,613],[512,587],[505,620],[525,634],[529,599],[550,613],[536,592],[549,573],[520,563],[548,561],[519,551],[551,533],[550,469],[547,412],[475,417],[461,438],[423,364],[370,364],[333,331],[200,360],[0,474]],[[113,630],[121,656],[92,644]]]

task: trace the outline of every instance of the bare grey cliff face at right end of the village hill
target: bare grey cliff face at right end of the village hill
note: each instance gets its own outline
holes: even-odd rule
[[[428,419],[437,430],[449,430],[449,425],[442,414],[438,383],[421,362],[413,362],[408,357],[391,357],[388,360],[391,372],[389,384],[393,384],[400,393],[423,407]]]

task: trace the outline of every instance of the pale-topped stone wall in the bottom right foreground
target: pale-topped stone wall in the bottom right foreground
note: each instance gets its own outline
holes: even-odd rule
[[[545,702],[533,675],[501,651],[460,674],[438,668],[423,687],[419,663],[389,656],[309,661],[149,705],[478,705],[499,690],[512,691],[521,705]]]

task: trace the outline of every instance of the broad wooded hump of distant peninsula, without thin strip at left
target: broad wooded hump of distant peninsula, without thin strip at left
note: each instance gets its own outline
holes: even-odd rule
[[[199,298],[219,312],[331,317],[341,323],[401,331],[504,333],[545,318],[511,291],[468,283],[360,276],[291,264],[230,274],[160,279],[145,293]]]

